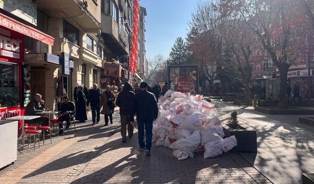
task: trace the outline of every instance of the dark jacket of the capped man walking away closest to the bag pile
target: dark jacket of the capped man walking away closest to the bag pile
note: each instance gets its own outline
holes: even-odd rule
[[[153,122],[158,116],[158,105],[155,95],[146,90],[141,90],[134,95],[132,101],[130,120],[134,121],[134,114],[138,122]]]

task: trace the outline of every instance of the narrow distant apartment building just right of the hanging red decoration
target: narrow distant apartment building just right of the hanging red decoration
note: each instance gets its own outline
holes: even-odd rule
[[[140,77],[146,79],[147,75],[147,59],[145,49],[145,16],[147,16],[146,8],[139,7],[139,27],[138,27],[138,70]]]

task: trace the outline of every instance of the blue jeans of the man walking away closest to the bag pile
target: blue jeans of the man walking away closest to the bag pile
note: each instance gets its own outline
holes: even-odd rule
[[[146,131],[146,150],[151,151],[153,138],[153,122],[137,122],[138,128],[138,143],[141,148],[145,147],[144,129]]]

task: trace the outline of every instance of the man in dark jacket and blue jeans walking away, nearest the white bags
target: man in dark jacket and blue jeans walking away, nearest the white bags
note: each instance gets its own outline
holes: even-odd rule
[[[134,121],[134,114],[136,113],[139,149],[145,149],[146,155],[150,156],[153,121],[155,121],[158,116],[158,105],[155,95],[147,91],[148,84],[146,82],[142,82],[139,87],[140,91],[135,94],[132,101],[130,120],[131,122]],[[146,147],[144,142],[144,129],[146,131]]]

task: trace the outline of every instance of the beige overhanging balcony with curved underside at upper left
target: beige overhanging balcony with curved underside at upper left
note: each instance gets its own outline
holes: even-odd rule
[[[80,0],[37,0],[39,9],[48,16],[65,19],[86,33],[99,33],[100,23]],[[71,18],[69,18],[71,17]],[[96,16],[97,17],[97,16]]]

